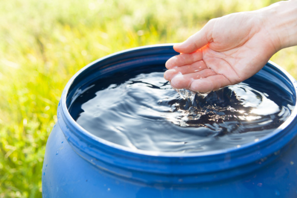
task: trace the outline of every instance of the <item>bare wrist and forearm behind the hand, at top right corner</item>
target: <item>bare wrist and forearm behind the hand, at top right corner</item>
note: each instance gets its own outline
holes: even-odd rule
[[[280,1],[256,11],[276,50],[297,45],[297,0]]]

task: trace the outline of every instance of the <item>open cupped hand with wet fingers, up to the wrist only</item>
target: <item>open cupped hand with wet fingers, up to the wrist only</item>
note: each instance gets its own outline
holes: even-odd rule
[[[258,72],[276,49],[259,21],[245,18],[245,14],[218,18],[182,44],[185,47],[175,47],[181,54],[167,61],[165,79],[174,88],[205,93],[237,84]],[[226,21],[235,26],[226,28]],[[236,24],[243,21],[238,29]]]

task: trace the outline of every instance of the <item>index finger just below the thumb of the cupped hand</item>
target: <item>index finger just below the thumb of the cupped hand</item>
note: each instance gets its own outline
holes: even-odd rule
[[[191,53],[191,54],[182,53],[180,55],[176,55],[169,58],[165,63],[165,67],[167,69],[172,69],[174,67],[193,64],[199,60],[202,60],[201,50],[198,50],[195,53]]]

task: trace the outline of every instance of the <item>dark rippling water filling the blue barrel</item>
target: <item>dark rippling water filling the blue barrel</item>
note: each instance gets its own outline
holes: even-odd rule
[[[281,90],[252,79],[200,95],[173,90],[163,72],[111,85],[102,79],[81,93],[69,111],[87,131],[126,147],[164,152],[257,142],[293,109]]]

